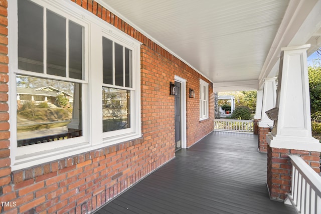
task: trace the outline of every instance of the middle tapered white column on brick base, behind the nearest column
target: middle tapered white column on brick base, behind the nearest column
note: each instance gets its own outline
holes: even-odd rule
[[[267,110],[275,107],[276,102],[276,77],[265,78],[263,97],[262,97],[262,109],[261,109],[261,121],[258,122],[258,150],[259,152],[267,152],[266,134],[273,126],[273,121],[265,114]]]

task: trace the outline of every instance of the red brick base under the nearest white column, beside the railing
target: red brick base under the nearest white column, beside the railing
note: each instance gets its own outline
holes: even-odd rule
[[[300,156],[316,173],[320,173],[320,152],[294,149],[267,149],[267,186],[271,199],[284,201],[291,188],[292,165],[288,155]]]

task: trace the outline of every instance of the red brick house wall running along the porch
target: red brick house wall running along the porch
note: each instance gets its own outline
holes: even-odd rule
[[[175,75],[187,80],[187,146],[213,131],[213,85],[140,32],[88,0],[72,0],[141,45],[141,122],[139,139],[12,172],[8,113],[7,1],[0,0],[0,207],[4,213],[88,213],[115,197],[175,155]],[[9,35],[10,36],[10,35]],[[210,83],[210,118],[199,121],[199,79]],[[188,97],[188,89],[195,98]]]

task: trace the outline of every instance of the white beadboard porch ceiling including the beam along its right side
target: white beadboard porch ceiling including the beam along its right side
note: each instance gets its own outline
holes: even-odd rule
[[[281,46],[290,44],[318,1],[97,2],[209,78],[217,91],[225,91],[259,88],[277,68]],[[303,44],[319,27],[310,27]]]

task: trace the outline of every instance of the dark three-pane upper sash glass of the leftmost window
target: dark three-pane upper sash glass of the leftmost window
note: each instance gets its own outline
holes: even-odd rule
[[[18,68],[82,80],[83,30],[37,4],[18,1]]]

